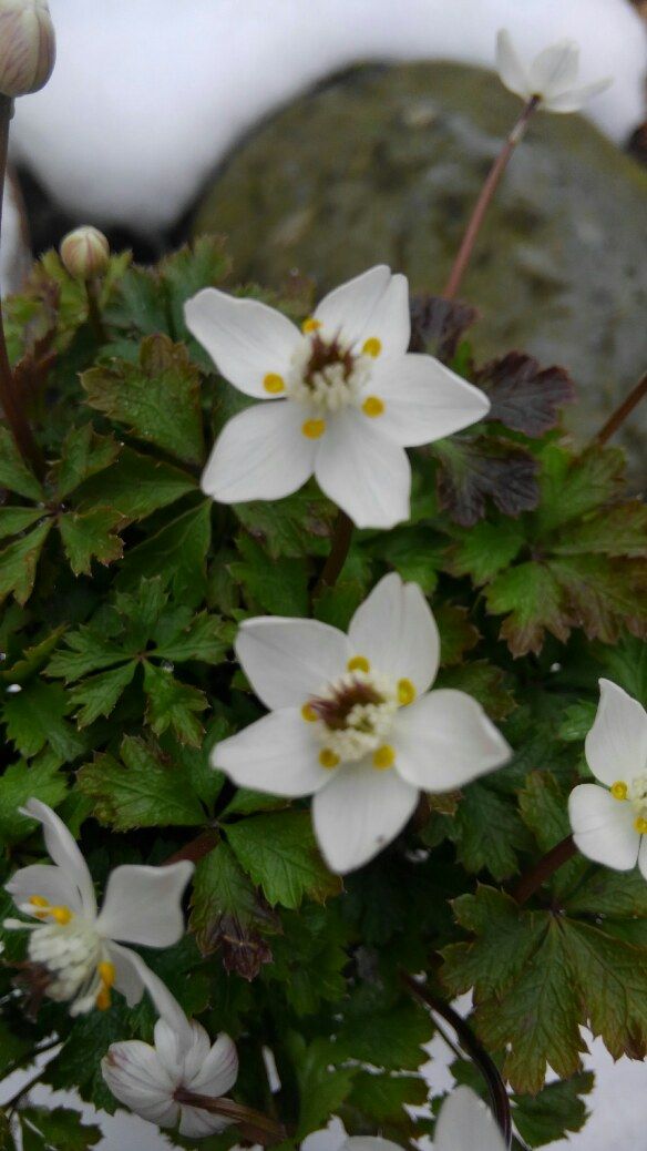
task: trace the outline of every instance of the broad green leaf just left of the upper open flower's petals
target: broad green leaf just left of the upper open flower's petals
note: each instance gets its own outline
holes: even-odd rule
[[[82,375],[87,403],[132,435],[190,464],[203,459],[198,369],[183,344],[147,336],[139,364],[125,360]]]

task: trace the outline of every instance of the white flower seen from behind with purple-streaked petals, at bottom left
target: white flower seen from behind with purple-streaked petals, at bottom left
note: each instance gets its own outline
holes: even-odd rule
[[[238,1055],[232,1039],[222,1034],[211,1045],[205,1028],[186,1019],[163,985],[155,1006],[162,1017],[154,1046],[139,1039],[113,1043],[101,1061],[106,1083],[120,1103],[159,1127],[179,1121],[180,1135],[193,1139],[224,1130],[231,1120],[179,1099],[180,1089],[216,1099],[233,1087]]]

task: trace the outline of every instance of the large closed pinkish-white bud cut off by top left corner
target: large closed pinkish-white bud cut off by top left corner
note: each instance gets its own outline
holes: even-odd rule
[[[49,79],[55,59],[47,0],[0,0],[0,94],[38,92]]]

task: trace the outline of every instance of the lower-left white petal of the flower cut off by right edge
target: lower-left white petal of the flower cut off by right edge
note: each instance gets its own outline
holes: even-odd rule
[[[576,845],[587,859],[617,871],[636,867],[640,836],[631,803],[596,784],[579,784],[569,795],[569,817]]]

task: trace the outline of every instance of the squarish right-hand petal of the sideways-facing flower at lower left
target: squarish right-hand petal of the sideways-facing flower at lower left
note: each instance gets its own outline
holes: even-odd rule
[[[182,897],[192,875],[187,860],[169,867],[116,867],[108,877],[97,930],[121,943],[172,947],[184,935]]]

